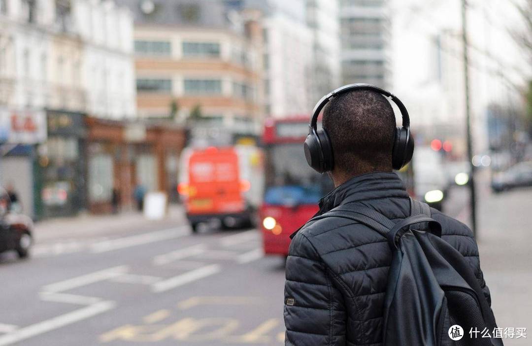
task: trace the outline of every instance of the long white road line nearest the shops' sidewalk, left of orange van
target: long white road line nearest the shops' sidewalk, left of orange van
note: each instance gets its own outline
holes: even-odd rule
[[[188,226],[157,230],[154,232],[98,242],[90,246],[90,251],[94,253],[101,253],[106,251],[130,248],[131,246],[138,246],[173,238],[179,238],[189,233],[190,232]]]

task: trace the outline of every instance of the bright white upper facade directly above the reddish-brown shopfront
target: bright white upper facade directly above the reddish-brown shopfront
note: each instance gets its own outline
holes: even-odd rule
[[[136,116],[133,18],[112,1],[75,0],[72,20],[84,42],[87,110],[100,118]]]

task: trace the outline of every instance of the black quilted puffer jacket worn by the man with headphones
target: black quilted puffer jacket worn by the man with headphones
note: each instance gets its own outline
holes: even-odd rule
[[[410,200],[393,172],[352,178],[320,201],[319,213],[339,204],[372,208],[389,219],[410,215]],[[471,230],[432,209],[442,238],[473,269],[491,306]],[[286,261],[286,345],[379,346],[392,251],[386,238],[353,220],[330,217],[306,224],[294,236]]]

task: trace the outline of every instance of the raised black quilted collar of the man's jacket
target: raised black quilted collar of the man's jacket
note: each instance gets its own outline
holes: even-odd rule
[[[340,204],[389,197],[409,197],[397,174],[394,172],[362,174],[347,180],[323,197],[319,202],[320,210],[313,217],[322,215]],[[304,225],[300,229],[303,227]],[[293,238],[300,229],[290,235],[290,238]]]

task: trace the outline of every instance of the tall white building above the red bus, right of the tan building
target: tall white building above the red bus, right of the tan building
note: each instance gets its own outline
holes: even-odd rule
[[[263,13],[265,113],[274,118],[308,115],[312,97],[313,35],[304,0],[248,0]]]

